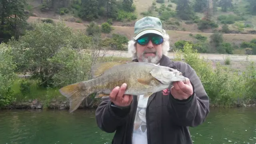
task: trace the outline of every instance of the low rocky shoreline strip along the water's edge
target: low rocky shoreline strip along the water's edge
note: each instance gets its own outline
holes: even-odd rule
[[[84,109],[84,110],[88,110],[88,109],[96,109],[98,107],[98,105],[94,105],[90,108],[86,107],[83,102],[82,104],[80,104],[80,106],[78,107],[78,109]],[[216,108],[216,107],[226,107],[226,106],[219,106],[219,105],[215,105],[215,104],[210,104],[211,108]],[[230,107],[227,108],[242,108],[242,107],[256,107],[256,103],[254,102],[254,104],[233,104]],[[2,107],[0,108],[0,110],[18,110],[18,109],[47,109],[47,110],[69,110],[69,102],[67,100],[61,100],[61,101],[57,101],[57,100],[53,100],[50,102],[45,102],[45,101],[38,101],[38,100],[28,100],[26,102],[15,102],[12,103],[8,106]]]

